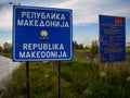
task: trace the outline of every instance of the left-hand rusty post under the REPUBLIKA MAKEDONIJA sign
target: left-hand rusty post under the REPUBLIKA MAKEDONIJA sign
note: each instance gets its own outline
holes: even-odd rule
[[[29,98],[29,62],[26,62],[26,90],[27,90],[27,98]]]

